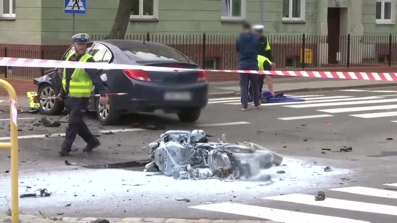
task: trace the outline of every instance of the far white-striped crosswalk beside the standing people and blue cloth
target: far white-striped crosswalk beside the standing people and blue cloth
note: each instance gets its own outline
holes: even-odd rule
[[[352,117],[371,119],[380,117],[397,116],[397,90],[361,90],[345,89],[339,90],[341,95],[326,94],[306,94],[306,95],[288,95],[292,98],[304,99],[303,102],[280,102],[266,103],[266,106],[279,106],[283,108],[294,109],[312,109],[312,113],[305,111],[303,116],[278,117],[283,121],[298,119],[314,119],[323,117],[332,117],[339,114],[347,114]],[[388,94],[389,93],[389,94]],[[213,98],[208,104],[225,104],[240,105],[240,97]],[[252,103],[250,103],[252,104]],[[387,110],[387,111],[386,111]],[[297,112],[298,113],[298,112]],[[325,113],[325,114],[324,114]],[[391,119],[396,123],[397,117]]]

